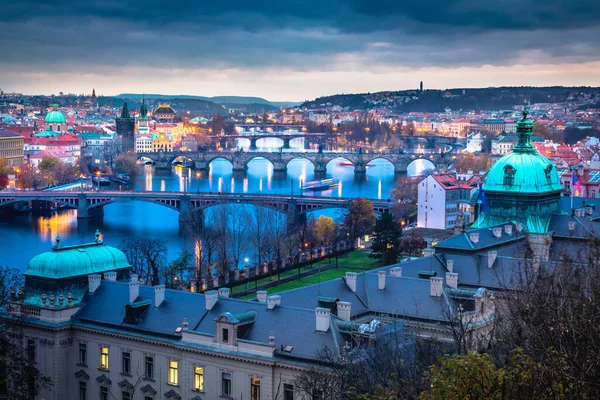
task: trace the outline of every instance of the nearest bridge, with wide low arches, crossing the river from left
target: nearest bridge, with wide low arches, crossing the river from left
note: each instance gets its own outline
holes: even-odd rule
[[[353,198],[291,196],[273,194],[238,193],[182,193],[182,192],[0,192],[0,207],[25,202],[47,201],[77,209],[77,218],[91,218],[104,215],[103,206],[120,200],[147,201],[160,204],[179,212],[179,219],[185,219],[193,212],[220,204],[253,204],[269,207],[287,214],[288,220],[295,221],[300,213],[327,208],[347,208]],[[371,200],[376,212],[388,210],[389,200]]]

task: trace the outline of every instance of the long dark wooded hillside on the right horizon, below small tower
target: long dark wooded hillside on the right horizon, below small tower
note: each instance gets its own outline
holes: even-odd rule
[[[500,110],[515,105],[593,99],[599,89],[591,87],[498,87],[446,90],[403,90],[394,92],[336,94],[301,104],[307,108],[339,106],[346,110],[384,109],[391,112],[442,112],[452,110]]]

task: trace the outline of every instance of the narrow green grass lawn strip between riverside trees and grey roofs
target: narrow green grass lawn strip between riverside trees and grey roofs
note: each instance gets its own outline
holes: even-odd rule
[[[318,263],[314,263],[312,265],[312,267],[308,267],[308,266],[303,267],[300,269],[300,272],[314,270],[316,268],[323,267],[323,266],[329,265],[329,264],[335,264],[335,258],[332,258],[331,261],[329,261],[329,259],[319,261]],[[351,253],[348,253],[347,255],[338,257],[338,265],[339,265],[338,269],[330,269],[330,270],[321,272],[320,278],[319,278],[319,274],[315,274],[315,275],[308,276],[306,278],[283,283],[280,286],[270,288],[269,293],[277,293],[277,292],[282,292],[285,290],[296,289],[296,288],[299,288],[302,286],[312,285],[312,284],[318,283],[319,279],[321,282],[325,282],[325,281],[329,281],[332,279],[341,278],[342,276],[344,276],[346,274],[347,271],[362,272],[362,271],[370,270],[370,269],[377,268],[380,266],[380,264],[377,260],[369,258],[369,253],[366,251],[363,251],[363,250],[360,250],[360,251],[355,250]],[[285,278],[285,277],[293,276],[293,275],[298,275],[298,269],[293,269],[291,271],[286,271],[286,272],[282,273],[281,278]],[[277,274],[273,274],[273,277],[271,279],[269,277],[266,277],[266,278],[259,280],[258,286],[267,284],[269,282],[274,282],[274,281],[277,281]],[[248,288],[253,288],[254,285],[255,285],[254,282],[250,282]],[[234,286],[231,289],[232,294],[243,292],[244,290],[246,290],[245,284]],[[251,295],[242,297],[242,299],[251,299],[251,298],[254,298],[255,296],[256,296],[255,294],[251,294]]]

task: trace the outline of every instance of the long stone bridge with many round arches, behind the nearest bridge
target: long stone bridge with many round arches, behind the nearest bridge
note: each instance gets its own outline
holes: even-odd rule
[[[356,152],[244,152],[244,151],[200,151],[200,152],[159,152],[138,153],[138,157],[152,160],[155,165],[168,168],[177,157],[191,160],[198,170],[208,170],[212,161],[222,158],[233,165],[233,171],[248,169],[248,163],[255,158],[265,158],[273,164],[274,172],[286,172],[287,165],[296,158],[304,158],[315,167],[315,176],[322,176],[327,172],[327,164],[336,158],[343,158],[354,166],[354,173],[366,172],[367,164],[373,160],[383,159],[394,165],[394,172],[406,174],[411,162],[426,159],[431,161],[437,168],[445,168],[452,161],[448,153],[356,153]]]

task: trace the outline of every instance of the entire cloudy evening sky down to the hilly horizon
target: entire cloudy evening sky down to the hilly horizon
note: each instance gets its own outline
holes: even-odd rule
[[[28,94],[600,86],[599,0],[15,0],[0,32]]]

